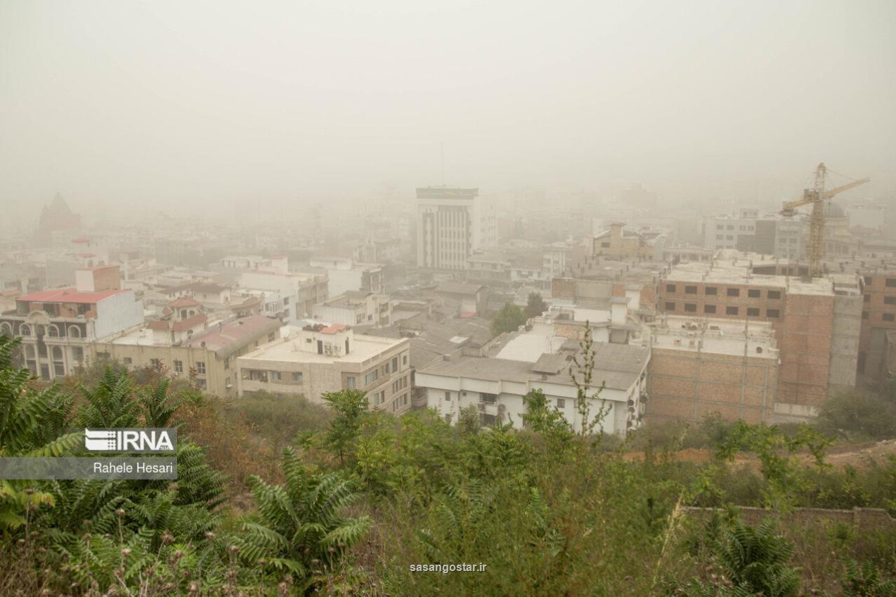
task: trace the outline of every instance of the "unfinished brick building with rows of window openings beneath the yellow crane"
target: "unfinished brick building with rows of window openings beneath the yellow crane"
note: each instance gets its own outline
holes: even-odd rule
[[[857,276],[806,281],[754,274],[759,263],[755,256],[723,251],[709,263],[673,267],[659,283],[659,311],[770,322],[780,349],[776,416],[814,417],[831,390],[856,384],[862,305]]]

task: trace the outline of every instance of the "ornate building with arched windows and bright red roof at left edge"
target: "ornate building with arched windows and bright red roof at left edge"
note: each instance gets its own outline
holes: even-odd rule
[[[73,373],[95,343],[142,326],[142,303],[118,287],[117,266],[78,270],[76,281],[22,294],[14,311],[0,314],[0,334],[22,338],[24,364],[43,380]]]

